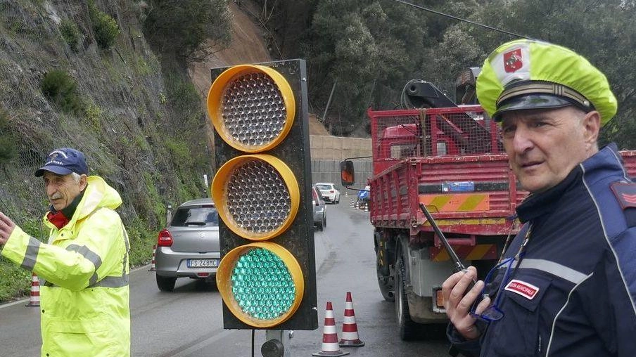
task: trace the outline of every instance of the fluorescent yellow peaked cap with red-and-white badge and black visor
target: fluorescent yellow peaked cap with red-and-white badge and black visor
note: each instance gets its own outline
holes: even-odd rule
[[[601,125],[618,108],[605,74],[569,48],[517,39],[486,58],[476,81],[477,98],[495,120],[502,112],[575,105],[597,110]]]

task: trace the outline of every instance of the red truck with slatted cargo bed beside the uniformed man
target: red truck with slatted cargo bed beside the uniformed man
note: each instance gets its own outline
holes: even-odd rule
[[[464,265],[485,274],[519,230],[515,208],[528,193],[509,167],[497,125],[479,105],[367,114],[377,279],[384,299],[395,301],[400,337],[412,339],[420,324],[447,321],[440,288],[454,268],[419,204]],[[621,154],[636,176],[636,151]],[[341,169],[343,186],[350,186],[353,162]]]

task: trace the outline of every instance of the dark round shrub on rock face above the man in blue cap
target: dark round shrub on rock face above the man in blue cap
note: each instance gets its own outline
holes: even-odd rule
[[[52,70],[44,74],[42,93],[49,101],[58,105],[63,112],[79,115],[84,105],[77,91],[75,79],[63,70]]]

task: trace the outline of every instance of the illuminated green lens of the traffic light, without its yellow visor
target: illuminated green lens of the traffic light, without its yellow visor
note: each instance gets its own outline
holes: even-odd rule
[[[295,299],[295,285],[287,266],[263,248],[241,255],[232,270],[231,287],[243,313],[260,320],[283,315]]]

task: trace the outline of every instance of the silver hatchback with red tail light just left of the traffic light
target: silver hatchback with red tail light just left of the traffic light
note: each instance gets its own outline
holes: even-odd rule
[[[214,279],[221,258],[219,215],[210,198],[180,205],[159,232],[155,252],[157,286],[174,290],[177,278]]]

